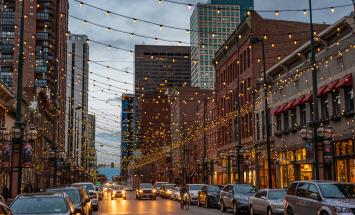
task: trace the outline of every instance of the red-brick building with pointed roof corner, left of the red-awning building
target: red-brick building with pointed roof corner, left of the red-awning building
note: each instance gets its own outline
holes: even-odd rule
[[[315,25],[315,31],[319,32],[325,27],[326,25]],[[255,149],[251,147],[255,143],[254,106],[260,103],[256,100],[253,89],[262,74],[261,44],[252,44],[251,40],[253,37],[264,40],[266,68],[270,68],[308,40],[309,34],[299,33],[308,28],[307,23],[264,19],[253,12],[216,53],[217,117],[225,121],[218,126],[218,153],[227,154],[236,150],[237,143],[243,146],[240,174],[245,183],[260,182],[260,186],[266,185],[265,163],[258,164],[260,171],[256,171],[256,165],[251,162],[255,157]],[[237,118],[230,116],[233,113],[238,114],[236,104],[240,108],[240,129],[236,126]],[[225,159],[222,162],[226,162]],[[230,171],[224,168],[222,172],[217,173],[219,184],[237,178],[236,162],[233,159],[229,162],[227,166],[231,168]],[[228,172],[230,174],[227,174]]]

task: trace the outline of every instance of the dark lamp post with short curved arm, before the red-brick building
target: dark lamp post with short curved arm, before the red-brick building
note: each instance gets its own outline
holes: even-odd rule
[[[266,81],[266,61],[265,61],[265,46],[264,40],[258,37],[250,38],[250,43],[261,43],[262,58],[263,58],[263,79],[264,79],[264,112],[265,112],[265,127],[266,127],[266,152],[267,152],[267,173],[268,173],[268,187],[272,188],[272,174],[271,174],[271,146],[270,146],[270,119],[269,106],[267,101],[267,81]]]

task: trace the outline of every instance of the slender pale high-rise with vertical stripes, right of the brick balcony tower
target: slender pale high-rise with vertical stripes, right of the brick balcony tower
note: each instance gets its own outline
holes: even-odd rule
[[[67,40],[66,157],[84,166],[88,124],[89,46],[86,35],[71,34]]]

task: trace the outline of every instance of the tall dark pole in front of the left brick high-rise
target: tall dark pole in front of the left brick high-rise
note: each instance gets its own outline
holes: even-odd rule
[[[21,193],[21,184],[22,184],[22,157],[23,157],[23,136],[24,136],[24,128],[22,124],[22,82],[23,82],[23,61],[24,61],[24,10],[25,10],[25,1],[21,1],[21,23],[20,23],[20,47],[19,47],[19,56],[18,56],[18,70],[17,70],[17,93],[16,93],[16,121],[15,121],[15,129],[20,129],[20,136],[18,138],[13,138],[12,144],[12,169],[11,169],[11,178],[14,180],[17,178],[17,187],[15,183],[12,183],[11,193],[12,196],[16,196],[16,194]],[[16,149],[18,149],[18,156],[15,154],[15,145]],[[15,160],[16,159],[16,160]],[[17,174],[15,168],[17,167]]]

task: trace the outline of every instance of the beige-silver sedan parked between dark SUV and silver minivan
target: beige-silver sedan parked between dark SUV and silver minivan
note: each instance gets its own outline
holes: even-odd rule
[[[283,214],[286,190],[263,189],[249,197],[249,212],[254,214]]]

